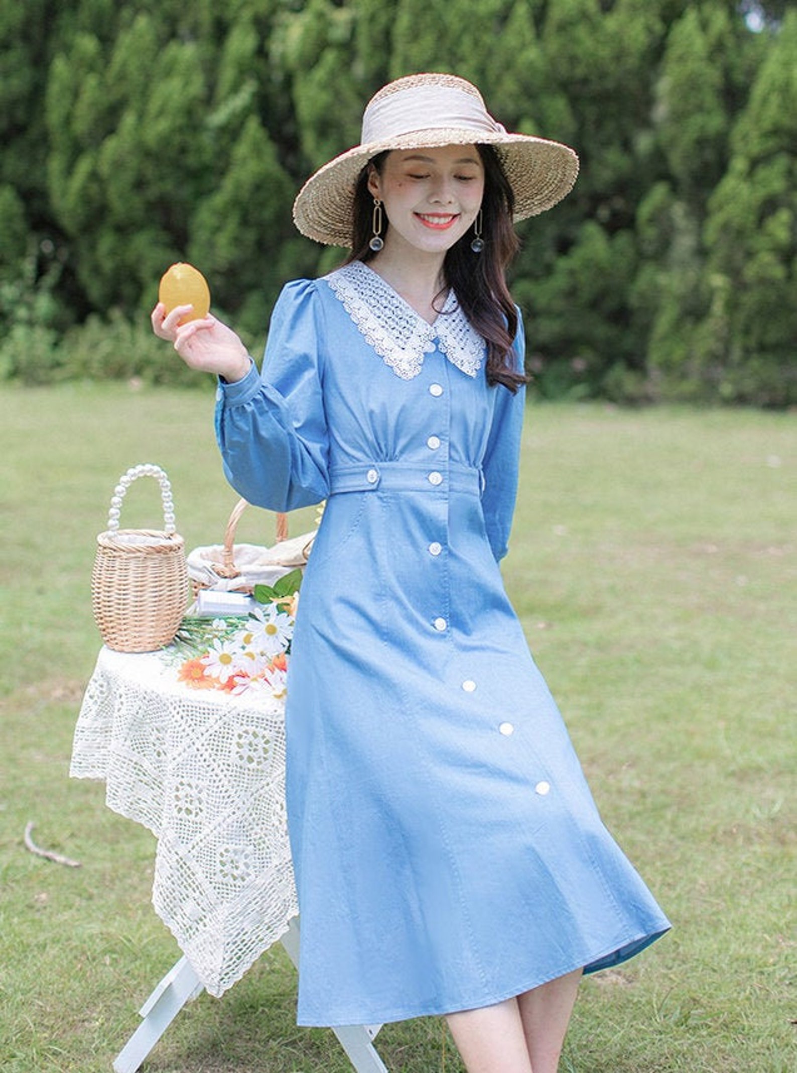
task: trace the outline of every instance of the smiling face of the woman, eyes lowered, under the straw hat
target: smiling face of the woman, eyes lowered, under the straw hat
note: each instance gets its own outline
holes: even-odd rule
[[[368,189],[390,222],[385,246],[445,253],[476,218],[484,193],[484,165],[475,145],[397,149],[375,167]]]

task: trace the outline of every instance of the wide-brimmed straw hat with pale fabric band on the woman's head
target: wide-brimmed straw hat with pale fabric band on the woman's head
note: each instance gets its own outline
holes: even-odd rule
[[[369,160],[392,149],[475,144],[495,146],[515,194],[515,220],[551,208],[576,181],[578,157],[569,146],[507,133],[464,78],[413,74],[374,93],[363,115],[360,144],[310,176],[294,202],[294,222],[316,242],[351,246],[354,191]]]

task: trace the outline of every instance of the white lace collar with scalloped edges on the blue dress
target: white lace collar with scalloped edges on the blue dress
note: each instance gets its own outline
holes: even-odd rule
[[[462,312],[452,289],[433,324],[361,261],[325,276],[336,297],[367,342],[397,377],[412,380],[434,350],[434,340],[452,365],[475,377],[484,359],[485,341]]]

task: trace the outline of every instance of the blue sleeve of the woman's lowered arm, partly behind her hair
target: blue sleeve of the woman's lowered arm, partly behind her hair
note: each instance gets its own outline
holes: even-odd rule
[[[518,327],[513,344],[515,368],[518,371],[523,368],[525,351],[523,324],[518,310]],[[485,487],[482,509],[492,554],[500,561],[508,550],[517,499],[526,388],[521,384],[514,395],[501,385],[496,386],[495,391],[498,395],[483,464]]]

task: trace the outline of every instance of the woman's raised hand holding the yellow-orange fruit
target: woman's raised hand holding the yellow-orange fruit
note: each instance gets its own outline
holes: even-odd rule
[[[212,372],[228,383],[242,380],[252,359],[235,332],[212,315],[178,324],[189,312],[191,306],[175,306],[166,313],[166,307],[159,302],[150,318],[152,330],[159,339],[173,343],[190,368]]]

